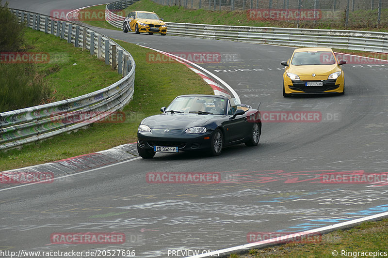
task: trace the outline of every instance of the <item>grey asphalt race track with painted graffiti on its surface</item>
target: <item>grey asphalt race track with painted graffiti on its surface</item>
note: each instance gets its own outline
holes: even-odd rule
[[[9,6],[49,14],[104,2],[10,0]],[[134,250],[139,258],[172,257],[168,250],[241,245],[249,232],[300,232],[388,211],[387,182],[335,184],[320,177],[388,174],[388,64],[344,65],[342,96],[283,98],[280,61],[291,56],[291,47],[99,31],[166,52],[221,53],[221,62],[200,66],[226,81],[242,103],[261,102],[267,114],[304,112],[319,119],[268,119],[257,147],[229,147],[218,157],[157,153],[2,191],[1,249],[115,249]],[[218,172],[222,180],[147,183],[149,172]],[[51,243],[51,234],[64,232],[118,232],[126,241]]]

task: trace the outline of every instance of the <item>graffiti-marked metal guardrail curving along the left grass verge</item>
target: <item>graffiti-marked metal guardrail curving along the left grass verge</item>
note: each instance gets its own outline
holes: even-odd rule
[[[117,68],[123,78],[112,85],[79,97],[0,113],[0,150],[85,127],[121,109],[132,98],[135,61],[130,53],[108,37],[47,15],[10,9],[33,30],[56,35],[75,47],[89,50]]]

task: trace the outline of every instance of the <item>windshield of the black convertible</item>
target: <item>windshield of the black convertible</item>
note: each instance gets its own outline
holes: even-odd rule
[[[218,97],[207,96],[182,96],[176,98],[165,112],[184,112],[198,114],[225,114],[226,100]]]

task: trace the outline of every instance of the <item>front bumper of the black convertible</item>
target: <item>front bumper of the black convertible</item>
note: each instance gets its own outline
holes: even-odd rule
[[[188,134],[184,130],[153,129],[151,132],[138,132],[137,145],[145,150],[154,150],[154,146],[178,147],[179,151],[195,151],[210,148],[212,132]]]

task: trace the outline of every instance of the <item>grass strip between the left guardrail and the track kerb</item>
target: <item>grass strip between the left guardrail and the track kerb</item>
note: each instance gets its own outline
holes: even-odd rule
[[[39,35],[43,37],[43,33],[40,33]],[[26,145],[21,150],[0,152],[0,171],[56,161],[135,142],[140,121],[147,116],[160,113],[160,108],[167,106],[177,95],[214,94],[210,86],[185,65],[178,62],[149,63],[146,61],[146,54],[156,52],[118,40],[115,42],[127,49],[136,61],[133,100],[123,110],[126,121],[96,123],[87,130],[79,130]],[[79,51],[79,49],[73,49],[73,51]],[[82,55],[82,53],[79,54]],[[96,61],[103,64],[102,61]],[[147,71],[159,71],[159,73],[150,74]],[[103,77],[98,69],[90,72],[94,72],[94,77]],[[73,76],[68,79],[74,83],[76,78],[77,73],[73,73]]]

